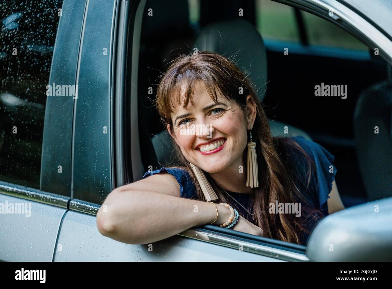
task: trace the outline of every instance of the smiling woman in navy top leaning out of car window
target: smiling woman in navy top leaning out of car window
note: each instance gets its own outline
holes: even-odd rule
[[[303,137],[272,137],[255,90],[225,57],[180,55],[156,106],[181,163],[111,192],[101,234],[145,244],[212,224],[305,245],[320,218],[344,209],[334,156]]]

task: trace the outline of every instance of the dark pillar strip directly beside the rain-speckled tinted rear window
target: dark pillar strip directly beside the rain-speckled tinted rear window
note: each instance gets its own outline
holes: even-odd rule
[[[49,84],[76,85],[76,69],[80,51],[80,33],[84,21],[84,10],[85,2],[83,1],[64,0],[63,2]],[[59,194],[69,198],[71,198],[72,181],[71,140],[73,134],[73,113],[73,97],[48,96],[42,141],[40,188],[49,192],[58,192],[60,190]],[[59,115],[61,115],[60,118],[58,117]],[[62,165],[62,173],[58,173],[58,165]]]

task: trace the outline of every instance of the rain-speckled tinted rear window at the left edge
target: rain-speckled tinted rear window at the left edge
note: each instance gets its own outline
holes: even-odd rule
[[[40,187],[46,86],[61,7],[62,0],[0,1],[1,181]]]

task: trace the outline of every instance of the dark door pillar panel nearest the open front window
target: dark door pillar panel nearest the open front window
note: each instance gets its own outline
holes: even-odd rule
[[[112,72],[120,2],[86,2],[76,73],[80,97],[74,101],[70,202],[70,209],[82,212],[102,203],[113,189]],[[96,29],[97,19],[102,29]]]

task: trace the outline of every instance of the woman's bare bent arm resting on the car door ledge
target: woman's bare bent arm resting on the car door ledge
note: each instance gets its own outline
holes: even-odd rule
[[[214,225],[230,217],[229,209],[217,208],[219,218]],[[128,244],[146,244],[212,223],[215,218],[212,203],[180,198],[176,178],[162,172],[113,190],[96,220],[104,236]]]

